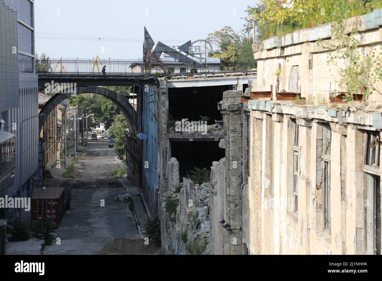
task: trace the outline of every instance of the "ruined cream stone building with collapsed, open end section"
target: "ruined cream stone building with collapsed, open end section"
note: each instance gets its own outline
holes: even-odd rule
[[[380,14],[345,20],[346,34],[359,30],[362,54],[381,50]],[[344,90],[320,38],[333,39],[330,24],[254,44],[257,73],[218,79],[227,81],[219,94],[209,77],[162,81],[164,253],[381,253],[382,85],[351,102],[343,101],[346,92],[330,97]],[[204,115],[221,116],[222,131],[170,130],[170,116],[188,117],[206,104]],[[189,118],[203,115],[194,113]],[[185,175],[208,163],[206,183]]]

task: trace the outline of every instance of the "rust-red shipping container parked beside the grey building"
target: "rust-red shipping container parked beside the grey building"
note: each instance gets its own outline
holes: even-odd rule
[[[37,224],[52,220],[52,226],[57,226],[65,213],[65,189],[41,188],[32,197],[32,221]]]

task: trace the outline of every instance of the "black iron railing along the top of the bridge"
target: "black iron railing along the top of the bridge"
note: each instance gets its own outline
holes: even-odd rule
[[[197,72],[218,71],[249,71],[257,67],[257,62],[223,62],[219,59],[199,60],[205,68],[198,68]],[[162,59],[162,62],[173,73],[190,73],[187,65],[173,59]],[[118,60],[100,58],[49,58],[36,60],[36,73],[40,76],[101,76],[102,67],[106,65],[106,76],[139,76],[144,73],[144,62],[138,60]],[[160,70],[159,65],[152,64],[152,74],[168,74]]]

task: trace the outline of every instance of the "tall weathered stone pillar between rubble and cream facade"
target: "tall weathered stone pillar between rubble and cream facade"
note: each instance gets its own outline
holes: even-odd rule
[[[225,223],[223,243],[224,253],[241,255],[243,253],[241,234],[241,195],[242,195],[242,119],[240,96],[242,91],[226,91],[218,109],[223,115],[225,134]]]

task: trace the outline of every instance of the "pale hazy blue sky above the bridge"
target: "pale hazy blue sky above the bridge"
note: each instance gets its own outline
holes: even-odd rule
[[[50,58],[142,58],[144,26],[155,43],[181,45],[224,26],[240,30],[246,7],[258,2],[36,0],[36,52]]]

